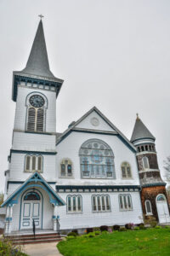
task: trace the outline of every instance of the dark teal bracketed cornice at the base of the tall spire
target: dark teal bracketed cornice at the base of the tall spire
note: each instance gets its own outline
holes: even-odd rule
[[[57,90],[56,90],[56,98],[59,94],[59,90],[61,88],[61,85],[63,82],[54,82],[54,81],[48,81],[48,80],[43,80],[43,79],[35,79],[35,78],[28,78],[28,77],[25,77],[25,76],[21,76],[21,75],[17,75],[17,74],[14,74],[14,84],[13,84],[13,101],[16,102],[16,98],[17,98],[17,93],[18,93],[18,84],[20,84],[20,82],[25,82],[26,84],[27,83],[31,83],[31,84],[41,84],[41,85],[48,85],[48,86],[53,86],[55,87]],[[35,90],[35,88],[34,88]]]

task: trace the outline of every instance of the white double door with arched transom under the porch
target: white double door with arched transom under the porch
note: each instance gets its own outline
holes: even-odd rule
[[[20,229],[32,229],[32,221],[35,221],[37,229],[42,228],[42,200],[37,191],[26,192],[23,196]]]

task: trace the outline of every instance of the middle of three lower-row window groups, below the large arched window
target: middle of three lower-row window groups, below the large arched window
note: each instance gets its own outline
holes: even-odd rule
[[[93,212],[109,212],[111,211],[111,203],[109,195],[92,195]]]

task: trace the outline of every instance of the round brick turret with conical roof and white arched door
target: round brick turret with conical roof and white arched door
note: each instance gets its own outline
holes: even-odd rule
[[[161,174],[157,162],[156,138],[144,125],[139,115],[133,128],[131,142],[137,149],[137,163],[139,168],[139,179],[141,184],[141,201],[144,218],[153,216],[160,223],[169,221],[169,211],[167,207],[166,183],[161,179]],[[160,204],[163,201],[167,210],[164,211]],[[164,217],[162,218],[162,216]]]

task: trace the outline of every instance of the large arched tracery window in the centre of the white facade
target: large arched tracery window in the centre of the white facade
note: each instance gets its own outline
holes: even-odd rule
[[[90,139],[79,151],[82,178],[116,178],[114,154],[103,141]]]

